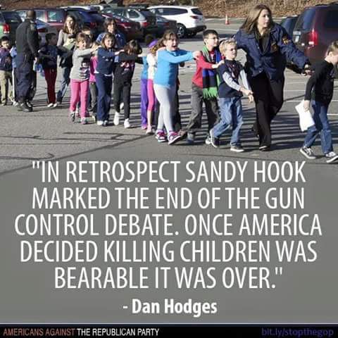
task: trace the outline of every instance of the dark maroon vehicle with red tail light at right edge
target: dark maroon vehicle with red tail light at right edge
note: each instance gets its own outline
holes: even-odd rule
[[[305,8],[294,26],[293,40],[311,63],[323,60],[330,43],[338,40],[338,4]]]

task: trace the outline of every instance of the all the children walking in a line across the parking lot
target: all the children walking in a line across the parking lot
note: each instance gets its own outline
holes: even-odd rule
[[[144,113],[142,114],[142,127],[146,127],[146,133],[151,134],[157,98],[160,104],[160,113],[156,139],[158,142],[168,141],[168,144],[174,144],[182,138],[182,134],[175,132],[173,127],[178,65],[195,58],[196,73],[192,79],[192,113],[187,125],[188,143],[194,143],[195,134],[201,128],[202,105],[204,103],[210,133],[206,144],[218,147],[220,136],[232,126],[230,151],[244,151],[240,142],[240,129],[243,124],[241,98],[245,94],[248,96],[249,102],[252,102],[253,92],[251,92],[246,79],[244,68],[238,61],[235,61],[237,45],[234,39],[223,40],[218,48],[217,32],[206,30],[203,35],[204,47],[202,51],[192,53],[178,49],[177,35],[173,31],[166,31],[162,39],[149,44],[149,53],[142,58],[142,49],[135,40],[126,44],[123,51],[118,51],[115,36],[111,33],[103,35],[101,46],[95,42],[91,45],[90,38],[90,34],[85,35],[83,32],[79,33],[76,38],[77,49],[73,52],[73,68],[70,72],[70,117],[72,120],[75,119],[75,108],[80,102],[81,123],[87,123],[90,83],[93,115],[96,113],[96,97],[98,97],[97,124],[108,125],[112,84],[114,83],[114,124],[118,125],[120,122],[122,96],[125,105],[124,126],[130,127],[130,92],[135,62],[146,63],[144,69],[147,73],[147,105],[146,116]],[[58,48],[56,44],[57,37],[54,33],[46,35],[46,46],[40,51],[47,83],[49,107],[56,106],[57,56],[63,55],[65,57],[67,52],[66,49]],[[89,46],[92,47],[89,48]],[[15,57],[15,50],[12,50],[13,57]],[[323,154],[327,163],[338,160],[338,155],[333,151],[332,134],[327,118],[334,89],[334,66],[337,64],[338,42],[332,42],[325,60],[314,67],[314,73],[306,85],[304,101],[304,108],[308,109],[312,100],[315,125],[308,129],[303,147],[300,149],[301,154],[309,159],[316,158],[311,146],[320,133]],[[0,49],[0,88],[1,104],[3,105],[15,99],[11,92],[13,78],[11,69],[9,39],[3,37]],[[114,70],[115,77],[113,76]],[[142,79],[145,80],[145,77]],[[218,109],[220,109],[220,116]]]

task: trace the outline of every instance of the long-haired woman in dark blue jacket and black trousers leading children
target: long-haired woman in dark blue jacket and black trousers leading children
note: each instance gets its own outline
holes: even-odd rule
[[[271,121],[284,101],[284,70],[287,60],[299,69],[309,68],[309,61],[296,49],[284,28],[273,22],[270,8],[256,5],[234,36],[237,47],[246,52],[245,69],[256,104],[256,123],[252,131],[258,136],[259,149],[271,145]]]

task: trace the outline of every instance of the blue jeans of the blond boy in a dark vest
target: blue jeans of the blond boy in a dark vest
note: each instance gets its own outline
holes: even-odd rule
[[[230,125],[232,125],[232,135],[230,144],[239,145],[239,131],[243,125],[242,100],[241,97],[220,97],[220,122],[213,127],[215,137],[220,137]]]

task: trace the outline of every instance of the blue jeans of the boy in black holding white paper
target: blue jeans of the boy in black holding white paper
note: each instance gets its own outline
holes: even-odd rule
[[[323,153],[328,154],[330,151],[333,151],[330,123],[327,119],[327,108],[329,108],[329,106],[321,104],[318,101],[312,101],[311,104],[314,111],[313,120],[315,121],[315,125],[308,128],[308,133],[304,139],[304,146],[310,148],[320,133]]]

